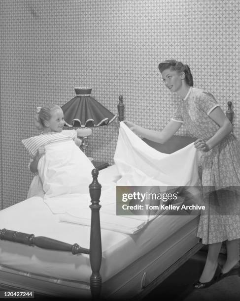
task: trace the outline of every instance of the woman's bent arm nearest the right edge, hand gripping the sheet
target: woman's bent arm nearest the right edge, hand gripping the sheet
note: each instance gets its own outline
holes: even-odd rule
[[[220,128],[216,133],[206,142],[201,139],[195,141],[195,147],[202,151],[209,151],[214,148],[219,142],[221,142],[231,131],[233,130],[232,123],[228,120],[224,112],[220,107],[216,107],[208,115],[214,122],[216,122]]]

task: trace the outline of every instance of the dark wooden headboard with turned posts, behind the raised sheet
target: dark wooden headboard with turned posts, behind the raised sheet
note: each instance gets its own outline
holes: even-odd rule
[[[123,103],[123,96],[119,96],[119,104],[117,105],[118,109],[118,120],[122,121],[124,120],[124,103]],[[227,118],[233,122],[234,117],[234,111],[232,110],[232,101],[228,101],[228,110],[226,111]],[[190,137],[190,136],[179,136],[174,135],[172,136],[167,142],[161,144],[157,142],[153,142],[151,140],[148,140],[146,138],[142,139],[146,144],[148,144],[150,147],[154,148],[157,151],[161,151],[164,153],[172,153],[174,151],[178,151],[188,144],[194,142],[196,138]]]

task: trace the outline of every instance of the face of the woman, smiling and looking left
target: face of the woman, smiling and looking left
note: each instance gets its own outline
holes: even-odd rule
[[[182,87],[183,79],[185,78],[185,73],[178,71],[166,69],[162,72],[162,77],[165,86],[171,91],[171,92],[177,92]]]

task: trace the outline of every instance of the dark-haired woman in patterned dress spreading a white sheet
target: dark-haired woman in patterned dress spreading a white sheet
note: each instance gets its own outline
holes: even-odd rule
[[[158,143],[165,143],[183,123],[190,134],[198,138],[194,144],[202,151],[200,176],[206,211],[201,214],[197,236],[208,244],[208,254],[202,275],[194,286],[202,289],[219,276],[228,276],[239,261],[240,144],[215,98],[204,90],[193,88],[188,65],[166,60],[159,64],[159,70],[165,86],[182,98],[175,115],[161,132],[130,121],[125,123],[136,134]],[[217,260],[222,241],[226,241],[227,260],[221,271]]]

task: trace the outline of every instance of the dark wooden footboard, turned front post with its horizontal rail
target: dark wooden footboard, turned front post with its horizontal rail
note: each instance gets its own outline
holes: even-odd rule
[[[0,240],[13,241],[27,244],[29,246],[37,246],[43,249],[56,251],[68,251],[73,255],[84,253],[90,255],[90,263],[92,274],[90,276],[90,289],[93,298],[100,297],[102,287],[102,277],[100,275],[100,267],[102,262],[102,243],[101,243],[101,228],[100,228],[100,195],[101,184],[98,182],[99,171],[92,170],[93,181],[89,185],[89,193],[91,197],[91,233],[90,233],[90,248],[82,248],[77,243],[69,244],[63,241],[57,241],[48,237],[27,234],[7,229],[0,229]]]

